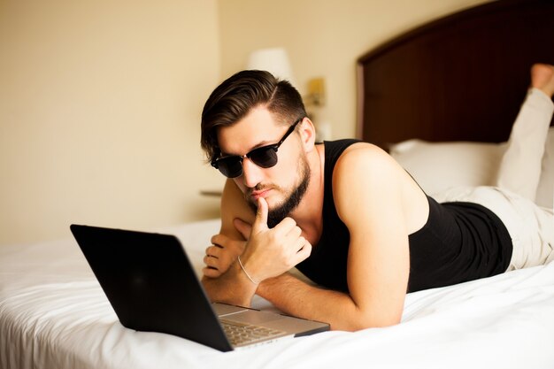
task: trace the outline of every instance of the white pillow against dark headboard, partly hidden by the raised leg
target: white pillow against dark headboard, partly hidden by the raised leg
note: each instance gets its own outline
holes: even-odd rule
[[[492,186],[506,143],[426,142],[412,139],[390,148],[390,155],[433,196],[457,186]],[[536,204],[554,203],[554,127],[550,127]]]

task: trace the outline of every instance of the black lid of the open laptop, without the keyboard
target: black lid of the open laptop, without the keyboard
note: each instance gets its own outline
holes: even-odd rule
[[[176,237],[77,225],[71,231],[123,326],[233,350]]]

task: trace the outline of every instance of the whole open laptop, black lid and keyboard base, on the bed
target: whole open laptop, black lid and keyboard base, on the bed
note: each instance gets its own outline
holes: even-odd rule
[[[329,329],[327,323],[210,303],[174,235],[79,225],[71,231],[124,327],[221,351]]]

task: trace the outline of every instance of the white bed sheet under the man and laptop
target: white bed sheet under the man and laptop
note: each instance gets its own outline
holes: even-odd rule
[[[218,228],[214,219],[162,231],[181,239],[200,273]],[[73,239],[3,246],[0,367],[552,368],[554,263],[409,294],[395,327],[222,353],[122,327]]]

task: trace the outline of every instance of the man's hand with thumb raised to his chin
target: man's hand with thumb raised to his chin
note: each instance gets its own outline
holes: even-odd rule
[[[312,253],[312,244],[302,236],[302,229],[296,226],[295,220],[285,218],[270,229],[267,227],[267,212],[267,202],[260,197],[251,227],[235,220],[235,227],[248,240],[241,255],[242,265],[255,281],[288,272]]]

